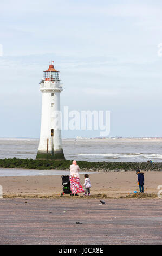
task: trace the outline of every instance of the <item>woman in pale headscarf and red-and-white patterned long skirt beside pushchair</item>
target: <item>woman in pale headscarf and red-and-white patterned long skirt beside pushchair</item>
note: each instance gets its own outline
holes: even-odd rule
[[[70,165],[70,187],[71,187],[71,196],[78,196],[78,193],[84,192],[82,185],[79,180],[79,166],[77,166],[76,161],[73,161],[73,164]]]

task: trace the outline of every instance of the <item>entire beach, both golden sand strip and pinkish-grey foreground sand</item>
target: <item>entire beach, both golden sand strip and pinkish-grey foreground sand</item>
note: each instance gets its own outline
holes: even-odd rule
[[[4,197],[16,198],[0,198],[0,244],[162,243],[162,199],[118,198],[139,191],[135,172],[89,175],[92,197],[70,198],[60,197],[61,175],[1,177]],[[157,194],[162,173],[144,175],[145,192]],[[102,205],[103,194],[118,199],[102,199]],[[47,198],[30,198],[37,196]]]

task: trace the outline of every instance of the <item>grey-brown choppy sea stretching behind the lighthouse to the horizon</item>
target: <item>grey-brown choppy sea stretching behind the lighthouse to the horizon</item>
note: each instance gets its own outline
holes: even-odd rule
[[[38,139],[0,138],[0,159],[35,159]],[[162,139],[63,139],[66,159],[76,161],[162,161]]]

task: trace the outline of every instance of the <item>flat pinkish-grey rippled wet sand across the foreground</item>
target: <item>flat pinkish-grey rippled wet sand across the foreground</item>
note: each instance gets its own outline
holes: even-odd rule
[[[105,201],[2,198],[0,244],[162,243],[162,200]]]

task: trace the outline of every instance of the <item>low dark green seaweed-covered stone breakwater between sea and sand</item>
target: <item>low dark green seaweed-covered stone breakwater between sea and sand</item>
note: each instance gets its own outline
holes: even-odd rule
[[[72,160],[50,161],[34,159],[0,159],[0,168],[23,168],[37,170],[69,170]],[[86,162],[77,161],[81,170],[96,172],[126,172],[140,169],[142,171],[162,171],[162,162]]]

